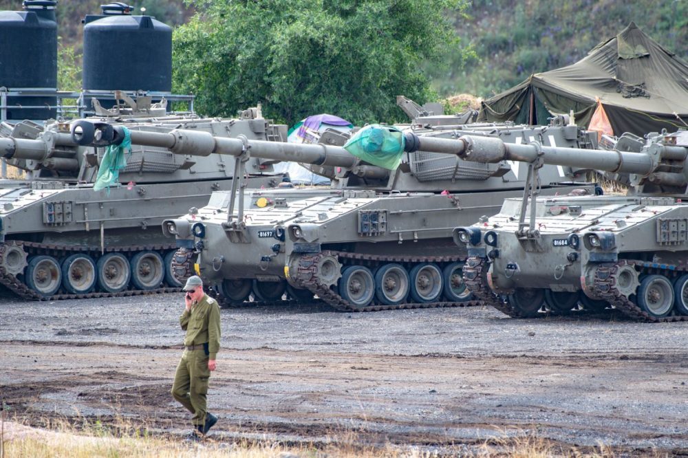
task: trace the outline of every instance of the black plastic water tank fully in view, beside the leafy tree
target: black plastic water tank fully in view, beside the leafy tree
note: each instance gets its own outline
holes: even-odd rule
[[[150,16],[131,16],[121,2],[103,5],[84,23],[83,88],[172,90],[172,29]]]

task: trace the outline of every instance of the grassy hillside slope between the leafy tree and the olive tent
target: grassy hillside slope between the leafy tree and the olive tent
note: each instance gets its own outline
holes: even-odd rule
[[[679,58],[688,58],[685,0],[473,0],[463,14],[458,34],[474,53],[459,53],[464,60],[451,72],[434,74],[434,87],[443,95],[497,94],[530,74],[579,61],[631,21]]]

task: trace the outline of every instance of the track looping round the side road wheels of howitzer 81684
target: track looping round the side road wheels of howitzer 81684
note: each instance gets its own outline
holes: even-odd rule
[[[630,261],[623,260],[616,263],[602,264],[595,270],[594,288],[597,294],[608,303],[614,305],[621,313],[636,321],[645,321],[649,323],[667,323],[671,321],[688,321],[688,316],[684,315],[669,315],[664,318],[657,318],[649,315],[641,307],[633,303],[627,296],[624,296],[616,288],[616,278],[614,274],[623,265],[630,265],[634,268],[641,268],[648,272],[652,270],[654,273],[676,273],[685,271],[685,267],[678,265],[666,265],[649,263],[647,261]],[[670,275],[668,275],[670,277]],[[672,312],[673,313],[673,312]]]

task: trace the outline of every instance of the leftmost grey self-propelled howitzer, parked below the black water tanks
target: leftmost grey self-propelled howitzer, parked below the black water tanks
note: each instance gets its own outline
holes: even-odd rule
[[[112,110],[94,108],[87,124],[106,123],[133,132],[183,127],[217,136],[261,140],[286,138],[286,126],[265,120],[259,108],[237,118],[166,113],[146,96]],[[23,298],[83,298],[180,287],[172,275],[173,241],[160,230],[164,219],[204,206],[215,190],[228,190],[234,162],[225,156],[174,155],[134,144],[126,166],[108,189],[94,191],[106,168],[105,147],[72,140],[70,124],[0,124],[0,157],[23,169],[25,179],[0,180],[0,290]],[[242,184],[277,186],[281,176],[262,160],[243,165]]]

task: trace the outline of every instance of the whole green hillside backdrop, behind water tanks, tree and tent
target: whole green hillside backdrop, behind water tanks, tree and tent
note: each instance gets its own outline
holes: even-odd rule
[[[58,3],[58,34],[61,57],[80,67],[81,19],[97,14],[105,0],[61,0]],[[195,10],[183,0],[129,2],[135,14],[146,14],[169,25],[186,22]],[[188,3],[188,2],[187,2]],[[0,0],[0,10],[21,10],[19,0]],[[409,18],[409,21],[412,21]],[[442,97],[468,93],[482,98],[504,91],[532,73],[570,65],[597,43],[611,38],[630,21],[680,58],[688,58],[688,0],[473,0],[466,12],[455,17],[457,34],[469,53],[447,50],[448,69],[422,69],[433,76]],[[431,30],[428,33],[432,33]],[[61,80],[66,64],[61,63]],[[60,89],[76,89],[61,87]]]

